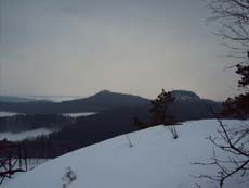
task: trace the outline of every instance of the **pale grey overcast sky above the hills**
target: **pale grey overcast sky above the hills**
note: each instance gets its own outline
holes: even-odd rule
[[[0,95],[233,96],[204,0],[0,0]]]

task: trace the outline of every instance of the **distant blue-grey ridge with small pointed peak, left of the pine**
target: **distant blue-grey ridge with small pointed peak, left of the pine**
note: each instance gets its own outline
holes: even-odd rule
[[[103,90],[94,96],[63,102],[31,101],[31,102],[1,102],[0,111],[27,114],[57,114],[76,112],[100,112],[113,108],[136,106],[148,104],[149,100],[132,96]]]

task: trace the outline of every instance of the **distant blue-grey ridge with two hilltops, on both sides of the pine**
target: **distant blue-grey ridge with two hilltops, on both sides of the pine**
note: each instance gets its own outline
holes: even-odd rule
[[[220,112],[222,110],[221,102],[201,99],[192,91],[174,90],[173,95],[175,101],[171,108],[171,113],[181,121],[211,118],[213,117],[213,112]],[[150,108],[150,100],[139,96],[110,92],[108,90],[100,91],[88,98],[63,102],[0,96],[0,111],[24,114],[100,113],[120,108],[141,108],[148,110]]]

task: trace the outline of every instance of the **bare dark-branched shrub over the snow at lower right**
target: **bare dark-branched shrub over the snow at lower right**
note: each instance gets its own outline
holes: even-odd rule
[[[217,175],[198,175],[197,178],[206,178],[219,183],[219,187],[223,188],[225,180],[234,175],[243,178],[249,170],[249,125],[241,122],[239,126],[225,125],[218,120],[218,136],[209,136],[208,139],[213,145],[213,154],[209,163],[193,163],[198,165],[215,165],[218,167]],[[225,153],[224,156],[218,156],[219,150]]]

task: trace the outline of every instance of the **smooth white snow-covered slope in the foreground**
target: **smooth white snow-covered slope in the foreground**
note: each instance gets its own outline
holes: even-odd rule
[[[224,121],[237,125],[240,121]],[[50,160],[27,173],[19,173],[4,188],[62,188],[65,168],[70,166],[77,179],[67,188],[201,188],[218,183],[193,175],[217,174],[215,166],[193,165],[209,162],[213,146],[206,138],[217,134],[215,120],[186,122],[178,126],[180,138],[172,139],[163,126],[118,136]],[[218,152],[219,153],[219,152]],[[224,153],[220,153],[224,158]],[[227,188],[248,188],[244,180],[228,179]]]

